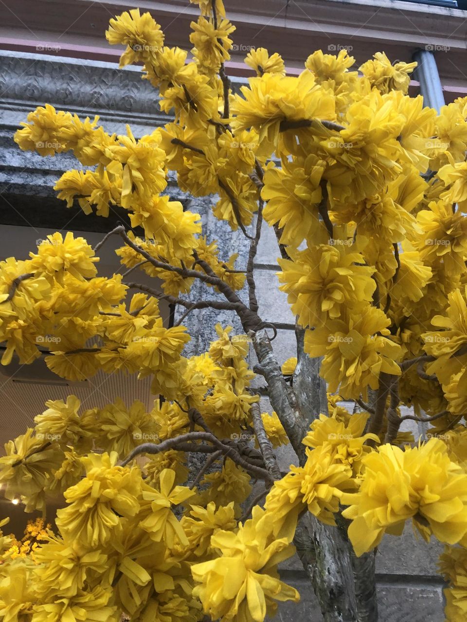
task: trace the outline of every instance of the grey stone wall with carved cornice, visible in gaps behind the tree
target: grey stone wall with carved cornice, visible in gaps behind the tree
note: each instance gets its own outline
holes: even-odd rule
[[[164,123],[158,111],[157,93],[147,81],[141,81],[138,69],[118,70],[111,63],[46,57],[26,53],[0,52],[0,223],[42,226],[81,231],[108,231],[121,218],[114,210],[111,217],[87,218],[78,208],[64,210],[52,190],[55,180],[68,167],[75,166],[73,158],[64,154],[57,158],[40,158],[31,152],[21,152],[12,141],[12,134],[27,112],[45,102],[57,108],[85,114],[100,114],[108,131],[123,133],[130,123],[135,136],[141,136]],[[168,192],[184,199],[172,178]],[[199,211],[208,238],[217,239],[223,258],[238,253],[238,264],[245,265],[248,244],[241,232],[233,234],[226,223],[220,223],[210,210],[211,198],[189,201],[189,208]],[[1,235],[1,233],[0,233]],[[295,318],[286,296],[278,290],[278,249],[273,231],[263,227],[255,264],[255,280],[260,303],[260,315],[273,321],[278,336],[273,348],[280,363],[296,355]],[[196,286],[194,296],[202,295]],[[212,297],[212,292],[210,292]],[[242,292],[245,296],[245,292]],[[215,337],[214,325],[220,322],[240,326],[229,313],[204,310],[193,312],[187,320],[194,340],[190,352],[205,351]],[[263,400],[263,409],[269,409]],[[288,468],[295,457],[286,448],[278,451],[281,467]],[[440,547],[428,547],[416,542],[410,527],[400,538],[387,536],[377,552],[377,582],[379,585],[380,620],[382,622],[441,622],[442,582],[435,573]],[[310,584],[296,558],[283,566],[283,580],[300,591],[300,605],[280,607],[281,621],[318,622],[322,620]]]

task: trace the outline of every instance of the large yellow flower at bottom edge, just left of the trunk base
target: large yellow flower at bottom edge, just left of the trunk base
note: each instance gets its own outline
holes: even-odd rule
[[[258,510],[260,508],[257,508]],[[221,622],[262,622],[276,610],[275,600],[300,600],[294,588],[280,581],[276,565],[291,557],[295,548],[283,539],[272,540],[265,515],[240,524],[237,534],[219,531],[211,544],[220,557],[191,567],[200,585],[194,595],[205,613]]]

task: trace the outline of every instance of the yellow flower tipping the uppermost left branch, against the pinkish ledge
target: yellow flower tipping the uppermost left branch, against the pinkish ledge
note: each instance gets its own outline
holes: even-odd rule
[[[142,60],[153,62],[156,52],[164,44],[164,34],[150,13],[139,14],[139,9],[123,12],[112,18],[106,30],[106,38],[111,45],[126,45],[120,57],[120,67]]]

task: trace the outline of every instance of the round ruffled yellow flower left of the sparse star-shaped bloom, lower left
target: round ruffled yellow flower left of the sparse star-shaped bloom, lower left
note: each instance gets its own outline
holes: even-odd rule
[[[57,526],[68,541],[84,547],[106,544],[121,531],[120,516],[139,511],[141,472],[115,466],[116,452],[81,458],[86,476],[65,491],[68,506],[57,511]]]

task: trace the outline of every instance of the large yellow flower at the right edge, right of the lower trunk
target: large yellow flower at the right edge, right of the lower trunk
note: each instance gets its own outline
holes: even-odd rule
[[[379,544],[385,532],[400,536],[412,519],[428,541],[455,544],[467,532],[467,475],[451,462],[441,440],[420,447],[383,445],[363,459],[360,490],[342,494],[350,505],[349,538],[357,556]]]

